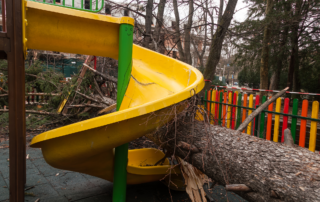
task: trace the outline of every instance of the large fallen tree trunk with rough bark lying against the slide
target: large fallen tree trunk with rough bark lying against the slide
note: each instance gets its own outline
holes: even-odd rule
[[[219,184],[246,185],[249,201],[320,201],[319,154],[196,121],[194,111],[146,136]]]

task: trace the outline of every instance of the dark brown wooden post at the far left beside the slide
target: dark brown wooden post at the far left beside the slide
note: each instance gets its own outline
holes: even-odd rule
[[[10,201],[24,201],[26,182],[25,71],[21,0],[6,0],[9,81]]]

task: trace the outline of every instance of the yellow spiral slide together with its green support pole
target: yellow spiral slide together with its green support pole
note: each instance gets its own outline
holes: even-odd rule
[[[133,45],[130,17],[34,1],[25,1],[23,6],[25,51],[61,51],[119,61],[117,112],[42,133],[32,139],[31,147],[41,148],[53,167],[113,181],[115,202],[125,201],[126,184],[160,180],[169,172],[179,175],[179,169],[169,169],[168,160],[154,166],[164,157],[161,151],[128,153],[127,143],[172,120],[172,105],[204,87],[202,74],[183,62]]]

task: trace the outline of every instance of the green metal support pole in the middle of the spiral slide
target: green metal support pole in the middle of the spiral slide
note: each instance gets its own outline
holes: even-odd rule
[[[119,111],[123,97],[126,93],[132,70],[133,26],[120,25],[119,59],[118,59],[118,85],[117,85],[117,111]],[[113,202],[126,201],[127,188],[128,143],[116,147],[113,178]]]

